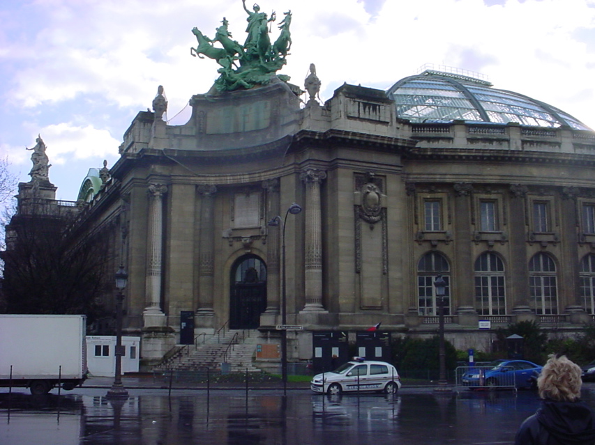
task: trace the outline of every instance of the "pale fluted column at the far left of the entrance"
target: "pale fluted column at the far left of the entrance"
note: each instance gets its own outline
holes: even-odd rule
[[[165,314],[161,310],[161,258],[163,253],[163,195],[167,185],[149,185],[149,245],[145,290],[147,306],[143,311],[145,327],[165,326]]]

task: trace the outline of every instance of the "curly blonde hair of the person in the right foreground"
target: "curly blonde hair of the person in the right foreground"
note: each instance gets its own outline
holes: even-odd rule
[[[541,375],[537,379],[537,387],[541,398],[573,402],[580,398],[582,373],[580,367],[565,355],[549,356],[548,363],[543,366]]]

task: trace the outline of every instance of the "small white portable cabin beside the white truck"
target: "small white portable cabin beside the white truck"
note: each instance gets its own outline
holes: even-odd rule
[[[122,374],[137,373],[140,361],[140,337],[122,337],[124,354]],[[86,336],[86,364],[96,377],[114,377],[116,370],[116,336]]]

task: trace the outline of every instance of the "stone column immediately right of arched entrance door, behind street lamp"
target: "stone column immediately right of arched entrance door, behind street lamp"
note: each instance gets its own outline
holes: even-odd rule
[[[270,179],[266,181],[262,181],[262,188],[266,190],[266,201],[267,205],[266,208],[268,213],[266,214],[266,221],[271,221],[271,219],[281,216],[280,214],[280,197],[279,197],[279,179]],[[283,224],[283,223],[282,223]],[[273,230],[268,230],[268,235],[266,236],[266,252],[267,252],[267,262],[266,262],[266,311],[265,314],[278,314],[279,313],[279,306],[280,306],[280,295],[281,295],[281,281],[280,281],[280,249],[281,249],[281,231],[283,228],[279,226],[278,228],[273,228]],[[267,320],[269,320],[267,315]],[[270,322],[263,322],[261,317],[261,325],[269,325],[274,323],[273,320],[269,320]]]

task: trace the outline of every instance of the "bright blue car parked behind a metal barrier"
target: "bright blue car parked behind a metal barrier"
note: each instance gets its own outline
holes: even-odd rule
[[[462,375],[467,387],[536,388],[542,366],[527,360],[497,360],[488,366],[469,368]]]

